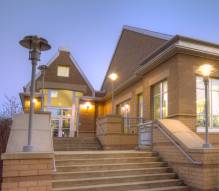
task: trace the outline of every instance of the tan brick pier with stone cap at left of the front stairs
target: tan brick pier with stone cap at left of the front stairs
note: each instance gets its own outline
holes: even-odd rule
[[[2,191],[51,191],[51,154],[3,154]]]

